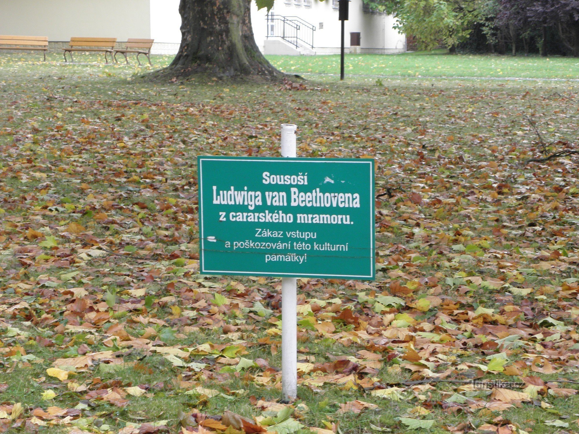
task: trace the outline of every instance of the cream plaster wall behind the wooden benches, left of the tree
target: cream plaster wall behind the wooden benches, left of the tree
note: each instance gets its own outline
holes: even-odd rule
[[[0,0],[0,34],[151,38],[149,0]]]

